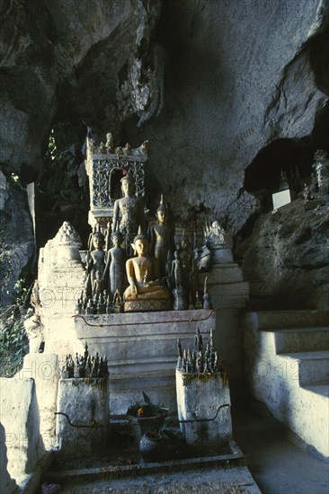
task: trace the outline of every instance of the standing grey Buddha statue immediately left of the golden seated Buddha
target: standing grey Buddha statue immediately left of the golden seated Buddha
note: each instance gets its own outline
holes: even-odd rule
[[[105,283],[107,283],[111,296],[114,296],[117,290],[119,290],[120,295],[122,296],[124,289],[128,285],[126,277],[127,254],[125,249],[121,247],[123,235],[120,231],[114,232],[111,235],[111,240],[114,247],[107,253],[103,279],[105,280]]]

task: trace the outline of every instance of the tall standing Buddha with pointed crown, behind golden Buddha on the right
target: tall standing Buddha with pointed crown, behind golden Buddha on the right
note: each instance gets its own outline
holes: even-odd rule
[[[161,195],[160,206],[156,209],[157,225],[151,229],[151,253],[160,261],[161,277],[165,276],[168,252],[173,251],[173,232],[168,225],[168,209]]]

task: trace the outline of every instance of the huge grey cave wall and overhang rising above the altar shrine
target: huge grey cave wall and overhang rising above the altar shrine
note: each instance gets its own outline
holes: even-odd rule
[[[4,177],[40,183],[58,123],[88,128],[96,140],[112,131],[117,145],[147,139],[149,203],[164,192],[191,225],[217,217],[236,234],[260,212],[245,189],[255,156],[277,139],[315,140],[327,103],[328,8],[325,0],[4,0]],[[83,148],[80,131],[77,138]],[[82,162],[83,154],[76,169]],[[77,171],[68,179],[74,190],[84,187]],[[43,216],[45,200],[52,221],[58,210],[65,214],[58,194],[54,202],[46,194],[41,230],[51,217]],[[4,220],[9,207],[4,200]],[[29,216],[26,204],[19,207]],[[44,228],[42,242],[48,235]]]

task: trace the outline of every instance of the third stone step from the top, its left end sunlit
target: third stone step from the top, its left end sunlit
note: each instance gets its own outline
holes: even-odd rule
[[[280,357],[287,357],[298,362],[290,364],[296,367],[290,374],[291,379],[298,379],[300,386],[307,386],[319,381],[329,381],[329,351],[309,351],[281,354]]]

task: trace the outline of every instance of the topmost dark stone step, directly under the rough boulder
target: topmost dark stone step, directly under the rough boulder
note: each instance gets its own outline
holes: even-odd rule
[[[261,311],[256,314],[259,331],[329,326],[329,311]]]

